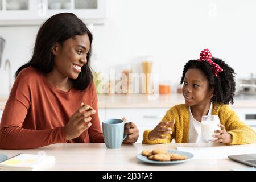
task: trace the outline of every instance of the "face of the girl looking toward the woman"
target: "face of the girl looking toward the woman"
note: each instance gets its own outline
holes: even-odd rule
[[[182,92],[188,106],[207,104],[213,97],[213,88],[209,88],[207,77],[196,68],[185,73]]]

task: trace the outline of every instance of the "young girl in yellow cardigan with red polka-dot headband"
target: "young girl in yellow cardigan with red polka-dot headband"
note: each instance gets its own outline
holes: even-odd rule
[[[172,139],[176,143],[208,143],[201,137],[203,115],[220,118],[221,130],[215,131],[213,143],[256,142],[254,130],[228,106],[233,104],[234,74],[229,65],[204,49],[198,60],[190,60],[184,66],[180,84],[183,83],[185,104],[172,107],[153,130],[144,131],[142,143],[170,143]]]

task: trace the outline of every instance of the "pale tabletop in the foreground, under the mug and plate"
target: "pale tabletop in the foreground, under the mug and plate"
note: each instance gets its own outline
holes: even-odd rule
[[[218,170],[225,171],[231,169],[250,168],[241,163],[234,162],[228,158],[213,159],[191,159],[184,163],[175,165],[152,165],[143,163],[136,158],[142,150],[152,150],[155,148],[163,150],[176,150],[177,147],[228,147],[251,148],[256,150],[256,144],[246,144],[240,146],[225,146],[224,144],[195,144],[195,143],[166,143],[166,144],[123,144],[118,149],[107,149],[104,143],[64,143],[52,144],[50,146],[30,149],[30,150],[0,150],[0,154],[5,154],[9,158],[19,153],[26,154],[46,154],[56,158],[55,164],[43,168],[43,170],[90,170],[90,171],[179,171],[179,170]]]

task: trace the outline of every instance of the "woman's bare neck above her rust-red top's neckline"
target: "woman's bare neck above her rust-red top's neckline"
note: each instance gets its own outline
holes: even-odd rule
[[[68,92],[72,88],[72,81],[57,71],[57,69],[53,69],[52,72],[46,73],[44,76],[57,89]]]

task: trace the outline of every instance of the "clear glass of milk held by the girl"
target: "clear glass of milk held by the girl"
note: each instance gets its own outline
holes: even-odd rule
[[[221,129],[218,124],[220,124],[220,118],[218,118],[218,115],[203,115],[201,121],[202,137],[208,141],[218,139],[213,137],[213,135],[219,135],[219,133],[214,132],[215,130]]]

